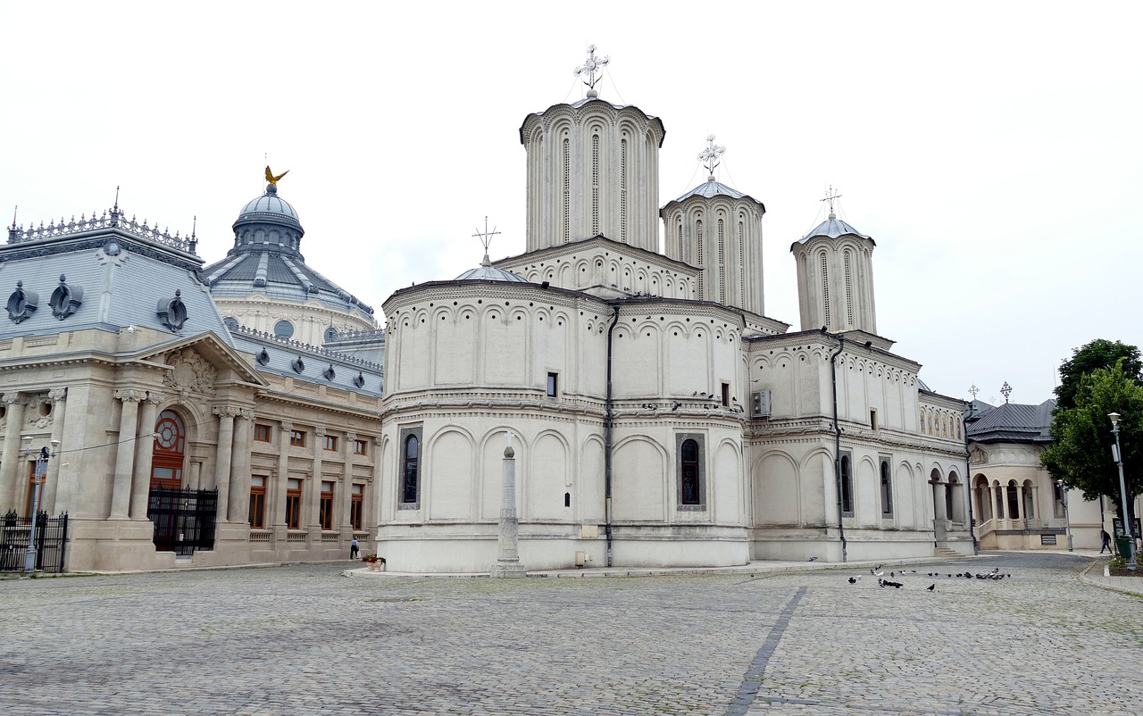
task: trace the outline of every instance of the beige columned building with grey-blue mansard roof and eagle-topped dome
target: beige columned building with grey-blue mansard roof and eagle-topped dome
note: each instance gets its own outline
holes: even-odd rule
[[[38,504],[69,515],[66,569],[334,558],[374,533],[383,370],[331,347],[381,331],[305,265],[275,192],[209,269],[118,203],[9,228],[0,513],[31,513],[57,445]]]

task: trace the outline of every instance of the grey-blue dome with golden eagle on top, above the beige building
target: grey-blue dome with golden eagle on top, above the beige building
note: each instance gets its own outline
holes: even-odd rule
[[[242,208],[233,228],[226,257],[202,269],[227,327],[312,346],[376,328],[373,308],[305,263],[305,230],[277,183]]]

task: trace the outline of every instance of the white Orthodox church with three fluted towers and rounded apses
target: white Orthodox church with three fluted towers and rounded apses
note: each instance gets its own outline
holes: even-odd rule
[[[529,114],[527,251],[384,301],[390,569],[489,569],[509,434],[531,569],[970,553],[964,402],[877,332],[873,240],[793,242],[790,332],[765,206],[711,171],[660,208],[664,135],[594,89]]]

